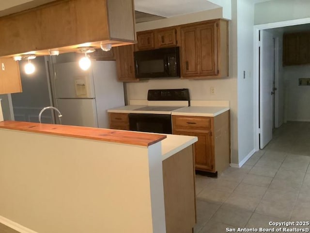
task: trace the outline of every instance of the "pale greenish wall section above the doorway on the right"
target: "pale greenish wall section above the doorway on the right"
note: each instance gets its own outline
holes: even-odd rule
[[[255,4],[254,24],[310,17],[310,0],[271,0]]]

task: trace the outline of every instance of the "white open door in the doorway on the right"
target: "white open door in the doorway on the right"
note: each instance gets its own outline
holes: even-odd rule
[[[260,149],[263,149],[272,139],[274,44],[271,33],[264,30],[260,33]]]

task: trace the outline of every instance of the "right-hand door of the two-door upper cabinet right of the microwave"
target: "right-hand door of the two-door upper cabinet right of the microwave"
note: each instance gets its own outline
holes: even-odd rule
[[[217,22],[200,26],[197,31],[199,73],[202,76],[217,75]]]

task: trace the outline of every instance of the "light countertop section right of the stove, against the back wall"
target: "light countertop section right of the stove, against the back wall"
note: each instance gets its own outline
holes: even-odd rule
[[[217,116],[228,111],[229,107],[189,106],[172,111],[173,116]]]

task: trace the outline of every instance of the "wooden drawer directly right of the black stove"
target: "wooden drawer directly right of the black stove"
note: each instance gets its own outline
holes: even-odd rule
[[[174,128],[211,128],[210,117],[204,116],[172,116],[172,122]]]

